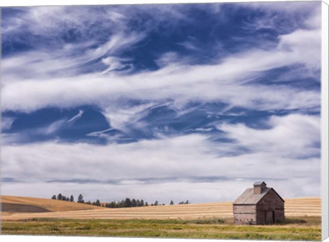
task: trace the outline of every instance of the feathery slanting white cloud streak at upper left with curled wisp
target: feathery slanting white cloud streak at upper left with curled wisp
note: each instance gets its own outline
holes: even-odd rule
[[[81,72],[81,66],[88,62],[97,61],[97,59],[108,55],[117,55],[119,51],[130,46],[141,39],[143,33],[122,32],[110,36],[108,42],[99,45],[95,40],[88,40],[82,44],[64,44],[56,51],[40,50],[29,51],[23,55],[13,55],[1,60],[2,64],[2,85],[11,85],[16,82],[33,81],[35,83],[45,82],[47,80],[60,77],[75,77]],[[80,55],[74,53],[79,52]],[[104,69],[97,75],[123,68],[125,65],[121,61],[125,59],[117,57],[103,57],[101,63]],[[97,75],[95,75],[97,77]]]

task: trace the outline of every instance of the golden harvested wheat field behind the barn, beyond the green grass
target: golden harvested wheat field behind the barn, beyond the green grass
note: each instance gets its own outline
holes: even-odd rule
[[[23,200],[23,198],[21,199]],[[27,200],[24,201],[27,202],[29,199],[31,200],[31,198],[27,198]],[[107,209],[99,206],[77,204],[75,202],[62,202],[40,198],[36,200],[43,208],[52,209],[55,212],[4,214],[1,216],[1,219],[18,220],[37,217],[68,219],[208,219],[214,217],[230,218],[233,215],[232,202]],[[42,200],[45,200],[47,206],[45,204],[40,204]],[[15,201],[17,202],[18,200]],[[33,202],[35,204],[34,200]],[[287,199],[285,211],[287,217],[321,216],[321,199]]]

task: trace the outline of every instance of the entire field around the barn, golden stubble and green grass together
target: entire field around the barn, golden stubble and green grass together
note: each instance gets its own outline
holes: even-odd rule
[[[72,211],[63,211],[65,208],[62,206],[75,206],[77,203],[57,201],[61,203],[55,204],[56,200],[48,202],[47,206],[43,204],[42,207],[51,208],[53,212],[4,212],[1,216],[1,232],[109,237],[321,240],[320,198],[287,199],[286,221],[269,226],[234,226],[232,202],[123,209],[79,204],[86,205],[84,210],[74,208]]]

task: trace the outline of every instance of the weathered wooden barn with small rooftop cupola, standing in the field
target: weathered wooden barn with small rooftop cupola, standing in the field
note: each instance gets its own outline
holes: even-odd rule
[[[264,182],[254,183],[233,202],[234,224],[274,224],[284,220],[284,200]]]

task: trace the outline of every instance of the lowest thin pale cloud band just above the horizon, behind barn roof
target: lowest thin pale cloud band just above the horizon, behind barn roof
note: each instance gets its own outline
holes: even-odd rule
[[[289,180],[265,180],[283,198],[319,196],[319,183],[311,179],[291,178]],[[1,191],[5,195],[32,196],[51,198],[53,194],[77,196],[82,193],[84,200],[112,202],[125,198],[143,199],[145,202],[169,204],[171,200],[177,204],[189,200],[197,202],[234,201],[247,187],[252,187],[254,180],[236,179],[214,183],[186,183],[184,181],[159,184],[80,184],[76,183],[5,183]],[[97,189],[95,189],[97,186]]]

